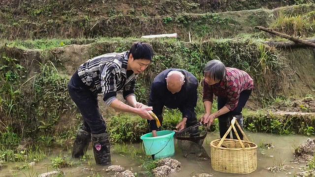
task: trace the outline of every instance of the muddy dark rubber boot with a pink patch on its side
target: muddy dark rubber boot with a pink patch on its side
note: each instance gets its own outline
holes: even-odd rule
[[[97,165],[111,164],[108,133],[92,135],[94,158]]]

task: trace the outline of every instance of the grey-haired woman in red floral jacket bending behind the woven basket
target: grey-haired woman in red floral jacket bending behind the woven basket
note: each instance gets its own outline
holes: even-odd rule
[[[251,76],[245,71],[225,67],[221,61],[214,59],[204,67],[204,77],[203,103],[206,113],[202,117],[202,122],[210,126],[215,118],[219,118],[221,138],[230,126],[233,117],[237,118],[238,123],[243,128],[244,118],[241,112],[252,93],[253,81]],[[215,113],[211,113],[213,95],[218,97],[218,111]],[[237,126],[236,129],[243,139]],[[229,135],[227,138],[230,138]],[[234,132],[233,138],[236,139]]]

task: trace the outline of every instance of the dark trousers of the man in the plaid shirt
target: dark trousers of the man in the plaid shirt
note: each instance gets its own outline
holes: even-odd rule
[[[77,72],[68,84],[68,91],[82,115],[82,129],[92,134],[105,133],[106,124],[99,112],[97,93],[92,92],[83,84]]]

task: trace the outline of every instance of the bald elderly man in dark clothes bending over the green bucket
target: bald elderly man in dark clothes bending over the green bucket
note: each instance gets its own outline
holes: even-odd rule
[[[176,126],[182,130],[186,126],[196,124],[195,107],[197,105],[198,81],[191,73],[184,69],[166,69],[158,74],[151,85],[148,106],[153,107],[160,123],[163,122],[163,107],[179,109],[183,114],[183,120]],[[157,136],[156,120],[148,120],[150,131]]]

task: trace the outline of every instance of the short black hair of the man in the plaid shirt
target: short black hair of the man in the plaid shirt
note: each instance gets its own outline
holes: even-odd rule
[[[132,54],[133,59],[148,59],[152,61],[154,52],[150,44],[145,42],[134,42],[129,50],[128,58]]]

